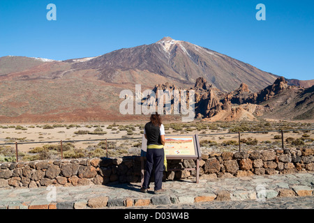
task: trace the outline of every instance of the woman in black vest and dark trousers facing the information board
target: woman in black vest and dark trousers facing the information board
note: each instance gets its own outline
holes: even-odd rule
[[[146,123],[144,127],[144,136],[147,139],[147,164],[141,191],[147,193],[151,173],[154,167],[154,192],[155,194],[159,194],[161,192],[165,192],[165,190],[161,188],[165,160],[165,152],[163,150],[163,146],[165,145],[165,128],[161,123],[160,115],[158,113],[151,114],[151,121]]]

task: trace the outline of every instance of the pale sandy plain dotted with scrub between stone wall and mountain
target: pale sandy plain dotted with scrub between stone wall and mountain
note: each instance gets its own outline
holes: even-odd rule
[[[53,129],[43,129],[44,125],[55,125],[57,123],[33,123],[33,124],[20,124],[20,123],[9,123],[9,124],[1,124],[0,128],[0,144],[8,144],[13,143],[14,146],[15,141],[18,143],[18,150],[22,152],[27,152],[31,148],[36,148],[38,146],[43,146],[47,144],[47,141],[72,141],[72,140],[90,140],[90,141],[78,141],[73,142],[75,145],[75,148],[87,148],[87,146],[93,146],[97,145],[100,141],[94,141],[96,139],[108,139],[109,141],[114,141],[111,139],[121,139],[124,138],[124,140],[116,141],[117,148],[124,147],[126,149],[130,147],[138,147],[141,139],[129,139],[129,138],[139,138],[142,137],[142,126],[146,121],[138,121],[136,123],[132,122],[121,122],[121,123],[115,123],[113,128],[107,129],[109,125],[113,125],[113,122],[110,123],[60,123],[61,125],[75,125],[75,127],[72,128],[66,128],[66,127],[57,127]],[[170,123],[170,122],[169,122]],[[166,124],[166,123],[165,123]],[[21,125],[24,128],[27,128],[27,130],[16,130],[15,128],[9,128],[12,125]],[[78,127],[77,127],[78,125]],[[133,134],[128,135],[126,130],[119,130],[119,125],[133,125]],[[208,123],[208,125],[211,125],[211,123]],[[237,124],[236,124],[237,125]],[[313,123],[311,123],[310,126],[307,128],[313,128]],[[4,128],[3,128],[4,126]],[[6,128],[8,127],[8,128]],[[93,132],[96,130],[96,128],[102,128],[103,131],[107,132],[106,134],[75,134],[78,130],[87,130],[89,132]],[[206,130],[197,130],[195,128],[192,128],[192,130],[186,131],[186,128],[183,128],[182,131],[176,131],[172,128],[168,128],[165,130],[166,134],[200,134],[200,141],[207,139],[210,141],[215,141],[217,144],[222,143],[223,141],[228,140],[234,140],[238,141],[238,134],[230,134],[228,133],[228,129],[224,128],[218,128],[217,130],[209,130],[207,128]],[[212,134],[204,136],[202,134]],[[274,139],[275,135],[279,135],[280,132],[268,132],[268,133],[241,133],[241,139],[246,139],[248,137],[253,137],[253,139],[257,139],[259,142],[258,145],[260,145],[259,148],[267,148],[269,145],[272,148],[281,148],[281,139]],[[302,134],[304,134],[303,131],[297,131],[297,132],[285,132],[284,139],[287,137],[293,137],[294,139],[302,137]],[[306,134],[309,135],[308,139],[314,138],[314,130],[308,131]],[[128,139],[126,138],[128,137]],[[40,142],[43,141],[43,143],[40,144],[19,144],[22,142]],[[262,143],[264,141],[268,141],[269,144]],[[53,144],[58,144],[54,142]],[[137,144],[137,146],[135,146]],[[261,146],[261,144],[263,146]],[[310,141],[306,143],[308,146],[314,146],[314,142]],[[285,147],[289,148],[291,144],[287,144],[285,142]],[[248,149],[253,148],[254,146],[248,146],[241,144],[241,148]],[[256,146],[255,146],[256,147]],[[237,149],[238,146],[228,147],[225,146],[223,148],[224,150],[234,150]],[[221,146],[218,148],[217,146],[207,146],[207,148],[202,148],[202,153],[206,153],[207,151],[212,151],[213,149],[218,150],[222,149]],[[138,147],[138,151],[136,148],[133,148],[133,152],[140,153],[140,147]]]

